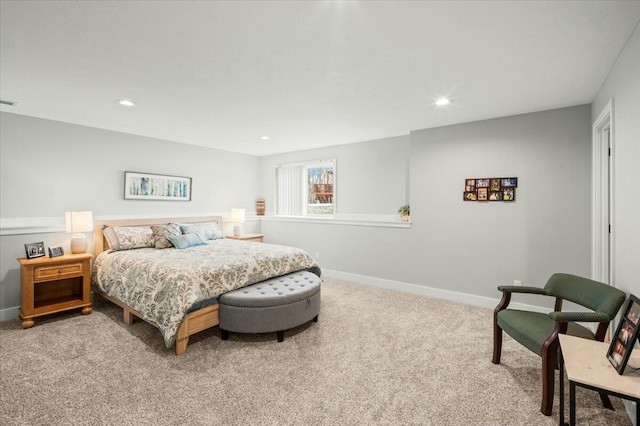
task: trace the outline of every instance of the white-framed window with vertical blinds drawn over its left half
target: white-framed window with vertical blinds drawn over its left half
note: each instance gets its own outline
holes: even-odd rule
[[[276,214],[335,213],[335,161],[283,164],[276,168]]]

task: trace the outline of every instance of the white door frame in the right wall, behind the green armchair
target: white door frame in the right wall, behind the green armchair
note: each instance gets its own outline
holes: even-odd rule
[[[591,163],[591,277],[615,287],[613,208],[614,196],[614,100],[610,99],[592,127]],[[604,134],[608,131],[609,143]],[[611,157],[609,156],[611,149]],[[611,233],[609,234],[609,225]]]

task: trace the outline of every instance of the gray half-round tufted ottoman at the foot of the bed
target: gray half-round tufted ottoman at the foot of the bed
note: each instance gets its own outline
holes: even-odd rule
[[[218,303],[222,340],[230,331],[275,331],[282,342],[285,330],[318,321],[320,278],[308,271],[294,272],[225,293]]]

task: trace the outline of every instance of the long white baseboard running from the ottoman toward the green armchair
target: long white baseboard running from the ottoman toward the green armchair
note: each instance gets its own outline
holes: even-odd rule
[[[401,281],[385,280],[382,278],[369,277],[366,275],[351,274],[348,272],[334,271],[331,269],[323,269],[322,275],[330,278],[336,278],[344,281],[352,281],[358,284],[366,284],[372,287],[386,288],[388,290],[396,290],[404,293],[419,294],[421,296],[434,297],[436,299],[450,300],[452,302],[464,303],[482,308],[495,309],[500,302],[500,298],[491,298],[485,296],[477,296],[475,294],[460,293],[457,291],[443,290],[440,288],[426,287],[417,284],[410,284]],[[496,290],[497,291],[497,290]],[[549,313],[552,309],[540,306],[527,305],[525,303],[509,304],[509,308],[522,309],[526,311],[534,311],[541,313]]]

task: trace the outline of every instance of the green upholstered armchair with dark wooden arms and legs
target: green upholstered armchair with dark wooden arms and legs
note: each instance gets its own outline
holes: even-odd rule
[[[569,274],[553,274],[544,288],[500,286],[502,300],[493,313],[493,358],[500,364],[502,331],[542,357],[542,406],[551,415],[555,370],[558,368],[558,334],[571,334],[604,341],[609,323],[615,318],[626,294],[607,284]],[[554,312],[548,314],[507,309],[513,293],[555,297]],[[592,312],[562,312],[562,301],[569,300]],[[598,323],[595,333],[576,322]],[[603,404],[612,408],[609,398],[600,394]]]

